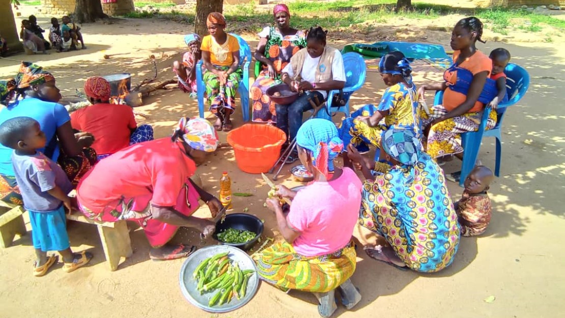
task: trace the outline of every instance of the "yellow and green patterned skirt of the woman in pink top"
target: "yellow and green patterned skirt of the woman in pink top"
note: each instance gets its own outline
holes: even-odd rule
[[[289,243],[277,242],[253,259],[262,280],[281,290],[325,293],[336,289],[355,272],[357,253],[353,242],[334,253],[308,257]]]

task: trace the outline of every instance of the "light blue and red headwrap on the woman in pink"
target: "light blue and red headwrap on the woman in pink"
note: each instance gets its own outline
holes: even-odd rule
[[[336,125],[327,119],[312,118],[306,121],[296,135],[296,143],[312,153],[312,162],[325,177],[333,171],[333,160],[344,151]]]

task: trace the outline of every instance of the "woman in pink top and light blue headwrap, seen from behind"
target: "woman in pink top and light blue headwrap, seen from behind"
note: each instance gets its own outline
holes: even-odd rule
[[[298,130],[297,144],[298,157],[314,174],[314,183],[299,192],[277,187],[278,196],[292,200],[286,216],[277,197],[267,199],[285,240],[255,256],[255,261],[264,281],[282,290],[313,292],[320,301],[318,312],[329,317],[337,308],[337,287],[347,309],[361,299],[349,277],[357,257],[351,235],[362,184],[353,170],[333,167],[344,145],[332,122],[310,119]]]

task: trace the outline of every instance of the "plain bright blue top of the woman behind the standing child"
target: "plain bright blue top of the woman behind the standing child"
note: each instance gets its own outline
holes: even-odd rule
[[[15,105],[0,111],[0,124],[10,118],[31,117],[35,119],[45,133],[47,145],[38,149],[53,161],[59,158],[59,146],[56,141],[56,130],[70,120],[69,114],[63,105],[56,102],[46,102],[38,98],[24,98]],[[48,149],[48,150],[46,150]],[[12,167],[12,149],[0,145],[0,174],[14,175]]]

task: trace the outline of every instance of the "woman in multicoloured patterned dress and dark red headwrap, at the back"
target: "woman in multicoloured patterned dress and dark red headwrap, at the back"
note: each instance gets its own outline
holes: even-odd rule
[[[251,85],[253,121],[259,123],[277,122],[275,102],[267,96],[267,89],[280,84],[281,72],[290,62],[292,55],[306,48],[306,31],[290,27],[290,11],[280,3],[273,8],[275,26],[265,27],[259,32],[259,44],[255,50],[257,63],[255,83]]]

